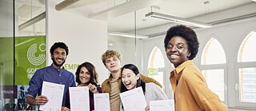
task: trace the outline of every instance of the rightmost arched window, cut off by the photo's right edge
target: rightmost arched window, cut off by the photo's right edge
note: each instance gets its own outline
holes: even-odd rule
[[[238,50],[239,101],[256,102],[256,33],[250,32]]]

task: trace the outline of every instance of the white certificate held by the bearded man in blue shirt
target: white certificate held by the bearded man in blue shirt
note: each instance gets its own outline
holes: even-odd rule
[[[43,81],[42,96],[46,96],[48,102],[45,105],[40,105],[39,110],[61,111],[64,88],[65,85]]]

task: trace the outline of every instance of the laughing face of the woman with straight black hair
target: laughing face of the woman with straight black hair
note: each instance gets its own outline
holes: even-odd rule
[[[137,80],[139,76],[136,75],[130,69],[123,69],[122,70],[122,83],[126,86],[126,89],[134,89],[137,85]]]

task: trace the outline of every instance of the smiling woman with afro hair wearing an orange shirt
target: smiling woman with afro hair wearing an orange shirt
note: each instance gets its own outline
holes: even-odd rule
[[[227,111],[218,95],[206,85],[206,80],[196,65],[198,38],[186,26],[173,26],[164,40],[166,56],[175,69],[170,72],[176,111]]]

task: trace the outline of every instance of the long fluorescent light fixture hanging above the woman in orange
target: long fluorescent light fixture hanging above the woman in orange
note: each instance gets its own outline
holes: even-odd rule
[[[196,21],[189,20],[186,18],[178,18],[178,17],[167,15],[167,14],[159,14],[156,12],[150,12],[149,14],[146,14],[146,17],[148,17],[148,16],[150,16],[152,18],[158,18],[158,19],[169,21],[169,22],[175,22],[175,23],[189,25],[189,26],[197,26],[197,27],[202,27],[202,28],[209,28],[209,27],[213,26],[211,24],[206,24],[204,22],[196,22]]]

